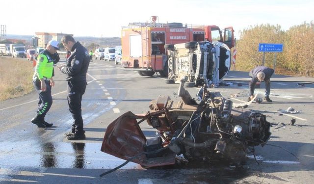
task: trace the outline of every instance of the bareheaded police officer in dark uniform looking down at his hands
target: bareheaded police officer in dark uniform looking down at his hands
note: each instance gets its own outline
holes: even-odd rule
[[[70,35],[63,36],[61,43],[67,51],[72,52],[66,61],[66,66],[58,67],[63,74],[67,74],[68,105],[74,119],[72,131],[67,133],[67,138],[68,140],[82,140],[85,139],[85,131],[81,114],[81,100],[86,89],[86,73],[90,56],[88,51]]]

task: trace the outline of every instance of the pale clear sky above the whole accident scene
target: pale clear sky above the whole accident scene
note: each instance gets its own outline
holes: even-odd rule
[[[121,37],[131,22],[180,22],[189,25],[281,25],[283,30],[314,20],[314,0],[1,0],[0,25],[7,34],[70,33]]]

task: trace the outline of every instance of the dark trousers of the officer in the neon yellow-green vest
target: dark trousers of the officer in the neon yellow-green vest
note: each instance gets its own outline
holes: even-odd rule
[[[39,79],[33,80],[33,85],[39,94],[39,102],[38,103],[38,109],[37,109],[37,115],[41,115],[43,117],[46,116],[47,112],[49,111],[51,105],[52,105],[52,96],[51,96],[51,86],[50,81],[45,80],[46,83],[46,91],[40,90],[41,83]]]

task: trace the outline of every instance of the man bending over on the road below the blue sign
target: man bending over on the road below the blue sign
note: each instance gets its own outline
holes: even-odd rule
[[[270,77],[273,75],[274,70],[265,66],[258,66],[250,71],[250,77],[252,78],[250,81],[250,97],[247,101],[251,101],[254,98],[254,89],[257,81],[265,82],[265,96],[263,101],[272,102],[269,98],[270,94]]]

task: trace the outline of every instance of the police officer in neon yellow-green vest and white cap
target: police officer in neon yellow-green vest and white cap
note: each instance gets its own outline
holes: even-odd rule
[[[40,103],[38,104],[37,114],[31,119],[31,122],[39,128],[51,127],[53,125],[45,121],[45,116],[52,105],[51,87],[54,86],[52,79],[52,55],[59,50],[58,44],[55,40],[49,41],[46,49],[37,57],[33,85],[39,94]]]

